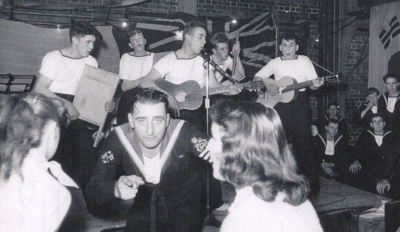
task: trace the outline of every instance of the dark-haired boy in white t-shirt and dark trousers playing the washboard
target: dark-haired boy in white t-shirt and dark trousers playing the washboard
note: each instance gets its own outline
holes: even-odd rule
[[[76,21],[69,29],[70,43],[59,50],[48,52],[41,62],[39,75],[33,92],[56,98],[63,102],[64,116],[60,122],[61,137],[54,160],[66,171],[75,172],[80,187],[84,190],[97,160],[92,147],[92,134],[98,126],[78,118],[79,112],[73,106],[73,98],[84,66],[97,67],[96,59],[90,55],[95,42],[101,40],[101,33],[86,22]],[[112,112],[115,103],[109,101],[104,110]],[[68,119],[70,123],[67,123]],[[65,128],[63,125],[66,125]]]

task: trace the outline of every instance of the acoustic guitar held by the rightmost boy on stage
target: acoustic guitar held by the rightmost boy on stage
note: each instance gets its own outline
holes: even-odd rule
[[[319,77],[317,80],[323,80],[323,83],[339,82],[343,78],[341,73],[335,73],[330,76]],[[258,95],[257,102],[273,107],[278,102],[288,103],[297,99],[298,89],[302,89],[312,85],[312,80],[297,83],[297,81],[289,76],[284,76],[280,80],[275,81],[271,78],[263,79],[266,84],[275,84],[278,86],[279,93],[277,95],[270,95],[267,91]]]

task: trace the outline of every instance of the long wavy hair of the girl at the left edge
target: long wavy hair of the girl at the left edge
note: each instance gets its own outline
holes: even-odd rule
[[[40,145],[44,126],[49,121],[58,123],[62,105],[40,93],[0,97],[0,182],[21,174],[27,153]]]

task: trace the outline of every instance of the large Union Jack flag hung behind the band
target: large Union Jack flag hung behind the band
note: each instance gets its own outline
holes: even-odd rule
[[[208,37],[213,33],[223,31],[228,35],[229,47],[231,48],[239,31],[240,58],[243,62],[246,76],[253,76],[270,59],[275,57],[275,30],[271,12],[263,13],[255,17],[237,19],[237,23],[220,20],[199,19],[199,17],[177,12],[166,18],[159,18],[151,23],[137,23],[136,27],[143,31],[147,40],[147,51],[159,53],[176,51],[182,46],[182,38],[179,36],[184,25],[191,20],[202,20],[207,25]],[[115,33],[114,33],[115,32]],[[122,37],[124,42],[118,43],[123,31],[113,30],[117,41],[120,55],[130,51],[127,46],[127,35]],[[208,43],[209,44],[209,43]],[[120,45],[122,47],[120,47]],[[211,50],[210,48],[208,49]]]

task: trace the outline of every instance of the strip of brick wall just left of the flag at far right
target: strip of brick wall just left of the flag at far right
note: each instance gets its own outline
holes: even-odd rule
[[[346,85],[343,86],[346,88],[345,118],[348,122],[350,144],[354,144],[361,133],[361,128],[354,122],[354,116],[358,111],[358,107],[366,102],[365,92],[368,89],[368,37],[369,32],[355,31],[351,38],[345,67],[342,68],[343,75],[352,70],[351,74],[347,78],[347,81],[345,81]],[[366,58],[363,59],[356,68],[353,68],[354,65],[364,57]]]

